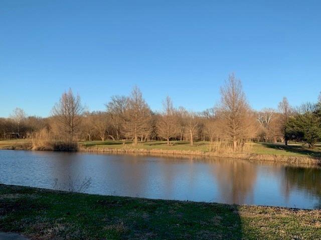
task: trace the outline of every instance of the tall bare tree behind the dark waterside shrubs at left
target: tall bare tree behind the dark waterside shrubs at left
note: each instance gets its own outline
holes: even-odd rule
[[[75,96],[69,88],[64,92],[59,102],[55,104],[52,113],[61,136],[66,136],[68,140],[73,140],[81,124],[83,106],[80,96]]]

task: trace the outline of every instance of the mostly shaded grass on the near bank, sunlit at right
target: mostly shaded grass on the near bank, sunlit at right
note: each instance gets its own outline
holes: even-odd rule
[[[319,239],[321,211],[0,185],[0,231],[31,239]]]

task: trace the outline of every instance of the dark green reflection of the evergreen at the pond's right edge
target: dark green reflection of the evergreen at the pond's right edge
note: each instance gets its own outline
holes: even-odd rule
[[[321,168],[319,167],[284,167],[284,194],[291,190],[303,191],[308,196],[317,196],[321,206]]]

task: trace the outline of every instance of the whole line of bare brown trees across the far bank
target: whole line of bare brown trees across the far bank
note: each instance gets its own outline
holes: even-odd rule
[[[241,80],[230,74],[221,87],[221,100],[202,112],[174,107],[163,100],[162,111],[152,111],[137,86],[130,95],[112,96],[103,111],[88,111],[71,89],[53,106],[49,117],[27,116],[16,108],[0,118],[0,138],[50,138],[60,140],[188,140],[224,141],[236,150],[249,140],[305,142],[321,140],[321,94],[315,103],[292,107],[284,97],[278,109],[255,111],[249,105]]]

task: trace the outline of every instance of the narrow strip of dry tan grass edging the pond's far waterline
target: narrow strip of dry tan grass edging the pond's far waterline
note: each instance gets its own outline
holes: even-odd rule
[[[34,150],[31,144],[16,144],[9,146],[2,146],[0,149],[7,150]],[[40,151],[52,151],[48,149],[37,149]],[[148,154],[148,155],[186,155],[186,156],[205,156],[205,157],[229,157],[246,159],[252,161],[269,161],[281,162],[290,164],[304,164],[304,165],[321,165],[321,158],[312,156],[288,156],[281,154],[259,154],[247,152],[213,152],[213,151],[200,151],[200,150],[168,150],[168,149],[145,149],[145,148],[129,148],[129,147],[97,147],[80,146],[79,152],[103,152],[103,153],[134,153],[134,154]]]

